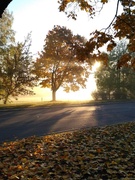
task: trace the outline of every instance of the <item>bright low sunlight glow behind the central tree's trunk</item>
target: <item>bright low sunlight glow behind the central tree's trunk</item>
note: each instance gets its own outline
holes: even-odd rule
[[[79,91],[66,93],[60,88],[56,93],[57,101],[89,101],[92,100],[91,93],[96,90],[96,82],[94,78],[94,74],[99,68],[100,63],[96,62],[91,70],[90,76],[86,82],[86,88],[80,88]],[[18,102],[43,102],[43,101],[51,101],[52,100],[52,92],[48,88],[35,87],[34,92],[36,93],[34,96],[23,96],[19,97]]]

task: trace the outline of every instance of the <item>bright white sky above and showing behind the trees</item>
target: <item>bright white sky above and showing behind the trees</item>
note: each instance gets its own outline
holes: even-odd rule
[[[67,18],[65,13],[59,12],[57,0],[13,0],[8,10],[13,12],[13,29],[16,32],[16,40],[24,41],[27,34],[32,32],[31,51],[36,55],[42,50],[46,35],[54,25],[66,26],[73,34],[82,35],[87,39],[92,31],[106,28],[115,15],[116,3],[117,1],[110,1],[94,19],[90,19],[85,12],[78,12],[76,21]],[[71,100],[74,97],[74,100],[89,100],[90,92],[96,88],[93,74],[90,75],[86,87],[86,89],[70,94],[63,93],[60,89],[57,92],[57,99],[61,100],[66,97],[66,100]],[[32,97],[33,100],[51,100],[49,90],[36,88],[35,91],[37,95]]]

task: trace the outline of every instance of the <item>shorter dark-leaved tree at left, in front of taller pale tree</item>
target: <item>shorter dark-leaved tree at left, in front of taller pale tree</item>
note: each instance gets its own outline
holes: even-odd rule
[[[18,95],[34,94],[34,76],[32,75],[32,56],[30,54],[30,35],[23,43],[11,44],[1,49],[0,97],[4,104],[10,101],[10,97],[17,100]]]

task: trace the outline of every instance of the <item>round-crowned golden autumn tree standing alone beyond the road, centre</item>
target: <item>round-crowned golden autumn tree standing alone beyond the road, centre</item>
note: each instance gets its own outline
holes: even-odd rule
[[[66,92],[85,87],[89,75],[88,63],[82,64],[76,56],[76,51],[84,44],[83,37],[74,36],[65,27],[54,26],[48,32],[43,51],[35,62],[35,74],[43,88],[51,88],[53,101],[60,87]]]

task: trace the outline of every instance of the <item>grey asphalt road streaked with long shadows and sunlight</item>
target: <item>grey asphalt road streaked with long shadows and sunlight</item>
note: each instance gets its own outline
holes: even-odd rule
[[[135,121],[135,102],[0,110],[0,143],[128,121]]]

